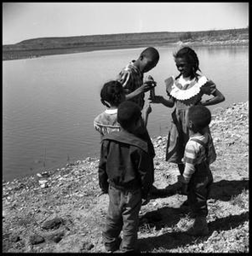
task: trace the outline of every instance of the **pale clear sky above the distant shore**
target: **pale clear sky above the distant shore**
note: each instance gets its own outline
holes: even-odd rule
[[[3,44],[31,38],[249,26],[249,2],[2,3]]]

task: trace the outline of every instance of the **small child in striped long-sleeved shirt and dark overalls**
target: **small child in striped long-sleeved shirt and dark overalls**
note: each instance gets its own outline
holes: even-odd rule
[[[207,236],[209,234],[206,216],[208,215],[207,200],[209,189],[213,183],[212,172],[209,169],[215,158],[209,154],[212,146],[208,125],[211,113],[208,108],[198,105],[189,108],[186,113],[186,127],[192,131],[183,161],[185,170],[179,177],[182,189],[188,196],[189,207],[196,217],[192,227],[186,231],[192,236]]]

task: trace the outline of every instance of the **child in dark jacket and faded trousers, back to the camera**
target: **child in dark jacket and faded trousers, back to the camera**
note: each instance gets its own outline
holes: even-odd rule
[[[152,157],[147,143],[135,135],[141,131],[138,105],[121,103],[117,121],[122,130],[101,141],[99,183],[110,200],[103,238],[106,251],[116,251],[121,243],[123,253],[130,253],[136,251],[141,200],[146,199],[153,183]]]

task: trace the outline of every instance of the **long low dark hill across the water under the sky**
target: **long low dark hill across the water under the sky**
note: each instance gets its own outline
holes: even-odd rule
[[[120,49],[175,44],[202,38],[249,37],[249,28],[201,32],[122,33],[66,38],[33,38],[18,44],[3,45],[3,60],[66,54],[95,49]]]

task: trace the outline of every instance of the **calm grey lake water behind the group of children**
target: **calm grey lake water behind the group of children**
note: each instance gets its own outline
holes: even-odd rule
[[[173,53],[157,47],[160,61],[151,74],[156,94],[166,96],[164,79],[177,74]],[[211,106],[226,108],[249,100],[249,47],[195,47],[199,67],[226,97]],[[105,107],[100,89],[136,59],[142,49],[117,49],[37,59],[3,61],[3,179],[64,167],[100,153],[94,117]],[[147,93],[148,96],[148,93]],[[152,104],[151,137],[166,135],[173,108]]]

